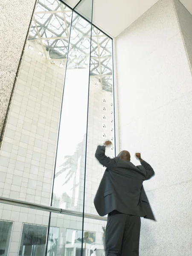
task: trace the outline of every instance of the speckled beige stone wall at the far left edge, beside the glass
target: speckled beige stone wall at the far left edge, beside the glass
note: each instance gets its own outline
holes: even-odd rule
[[[35,0],[0,0],[0,134],[34,6]]]

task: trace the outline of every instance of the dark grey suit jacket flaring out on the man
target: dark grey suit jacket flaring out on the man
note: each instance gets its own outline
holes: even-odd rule
[[[143,181],[154,175],[152,167],[145,161],[142,166],[134,166],[120,157],[111,159],[105,155],[105,146],[98,146],[95,156],[107,167],[94,199],[99,215],[117,210],[155,220],[143,188]]]

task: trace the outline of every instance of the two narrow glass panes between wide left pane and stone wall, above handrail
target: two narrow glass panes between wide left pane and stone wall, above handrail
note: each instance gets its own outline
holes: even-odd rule
[[[91,24],[73,13],[53,189],[55,207],[82,212],[87,146],[85,211],[96,213],[93,197],[104,170],[94,153],[98,143],[114,137],[112,65],[111,38],[94,26],[91,36]],[[107,154],[111,156],[111,150]]]

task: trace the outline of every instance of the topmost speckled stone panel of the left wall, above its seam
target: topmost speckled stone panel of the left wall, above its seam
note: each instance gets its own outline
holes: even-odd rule
[[[35,0],[0,0],[0,65],[16,73]]]

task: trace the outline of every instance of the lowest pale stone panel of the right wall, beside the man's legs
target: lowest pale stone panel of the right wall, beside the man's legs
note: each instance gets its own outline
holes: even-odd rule
[[[192,248],[192,181],[148,192],[157,222],[142,218],[142,256],[189,256]]]

